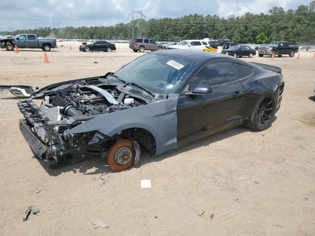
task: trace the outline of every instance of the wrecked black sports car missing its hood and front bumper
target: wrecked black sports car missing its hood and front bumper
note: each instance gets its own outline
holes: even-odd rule
[[[156,51],[116,73],[35,91],[18,102],[20,130],[35,156],[57,166],[101,156],[122,171],[140,150],[159,155],[238,125],[267,129],[282,100],[281,72],[222,54]]]

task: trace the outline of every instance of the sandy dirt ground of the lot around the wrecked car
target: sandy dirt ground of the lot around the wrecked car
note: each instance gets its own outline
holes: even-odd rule
[[[48,52],[45,64],[41,50],[0,50],[0,84],[43,87],[104,75],[142,55],[127,44],[112,53],[58,45],[64,46]],[[18,99],[0,92],[0,235],[314,236],[313,54],[243,58],[283,69],[282,107],[268,130],[237,127],[155,158],[144,155],[121,173],[103,159],[53,170],[34,158],[19,131]],[[102,174],[109,181],[95,188]],[[141,189],[141,179],[151,179],[152,188]],[[40,213],[24,222],[30,205]],[[109,228],[94,229],[96,218]]]

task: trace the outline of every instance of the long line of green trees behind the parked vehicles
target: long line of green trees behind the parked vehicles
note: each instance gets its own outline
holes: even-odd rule
[[[64,27],[28,29],[38,36],[70,39],[130,39],[137,20],[109,27]],[[300,5],[296,10],[284,11],[272,7],[268,14],[246,13],[227,18],[217,15],[193,14],[177,18],[142,20],[134,28],[134,37],[148,37],[157,41],[180,41],[183,39],[229,38],[240,43],[267,43],[274,40],[291,44],[315,44],[315,0],[309,5]],[[24,30],[3,32],[20,34]]]

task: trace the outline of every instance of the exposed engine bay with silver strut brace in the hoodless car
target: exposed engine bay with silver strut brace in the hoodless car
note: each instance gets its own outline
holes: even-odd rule
[[[59,112],[63,116],[85,115],[91,117],[144,104],[146,103],[143,100],[130,97],[114,86],[78,82],[71,87],[57,89],[52,91],[49,96],[45,96],[45,105],[41,105],[41,109],[45,112],[45,109],[59,108]],[[58,118],[58,120],[61,119],[61,117]]]

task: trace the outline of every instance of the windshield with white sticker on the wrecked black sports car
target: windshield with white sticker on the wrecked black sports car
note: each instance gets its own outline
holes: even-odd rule
[[[158,94],[178,93],[194,69],[189,60],[147,54],[126,64],[115,75]]]

